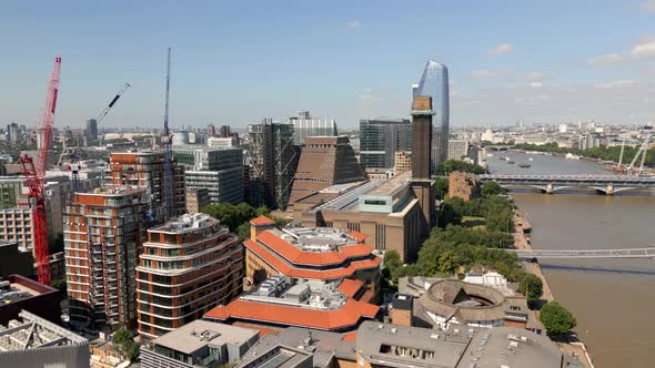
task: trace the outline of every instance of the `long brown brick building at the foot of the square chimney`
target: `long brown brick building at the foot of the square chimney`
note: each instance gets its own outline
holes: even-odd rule
[[[328,187],[296,202],[293,217],[304,227],[363,233],[373,249],[395,249],[402,259],[415,259],[423,215],[411,176],[405,172],[389,180]]]

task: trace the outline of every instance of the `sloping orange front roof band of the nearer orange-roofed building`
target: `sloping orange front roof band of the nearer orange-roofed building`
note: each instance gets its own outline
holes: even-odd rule
[[[362,318],[374,318],[380,307],[373,304],[349,299],[340,309],[319,310],[285,305],[236,299],[226,306],[218,306],[204,318],[228,320],[251,320],[285,326],[337,330],[353,327]]]

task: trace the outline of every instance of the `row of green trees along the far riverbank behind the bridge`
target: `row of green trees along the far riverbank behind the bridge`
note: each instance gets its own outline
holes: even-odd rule
[[[582,155],[585,157],[591,159],[599,159],[605,161],[614,161],[618,162],[621,159],[621,146],[599,146],[594,149],[586,149],[586,150],[577,150],[577,149],[567,149],[567,147],[560,147],[557,143],[546,143],[546,144],[527,144],[521,143],[516,144],[515,149],[517,150],[525,150],[525,151],[537,151],[537,152],[553,152],[553,153],[573,153],[577,155]],[[623,164],[628,164],[637,154],[637,147],[625,147],[623,152]],[[646,160],[644,161],[645,165],[653,166],[655,165],[655,149],[651,149],[646,152]]]

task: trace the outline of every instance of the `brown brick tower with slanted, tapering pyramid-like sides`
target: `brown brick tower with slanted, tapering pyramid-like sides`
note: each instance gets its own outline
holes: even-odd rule
[[[335,184],[364,181],[347,136],[305,137],[289,205]]]

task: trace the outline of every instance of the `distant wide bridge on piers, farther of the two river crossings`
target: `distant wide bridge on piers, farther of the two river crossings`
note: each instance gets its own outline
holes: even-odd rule
[[[535,187],[555,193],[571,187],[587,187],[612,195],[631,190],[654,190],[655,177],[619,175],[480,175],[481,182],[496,182],[503,187]]]

